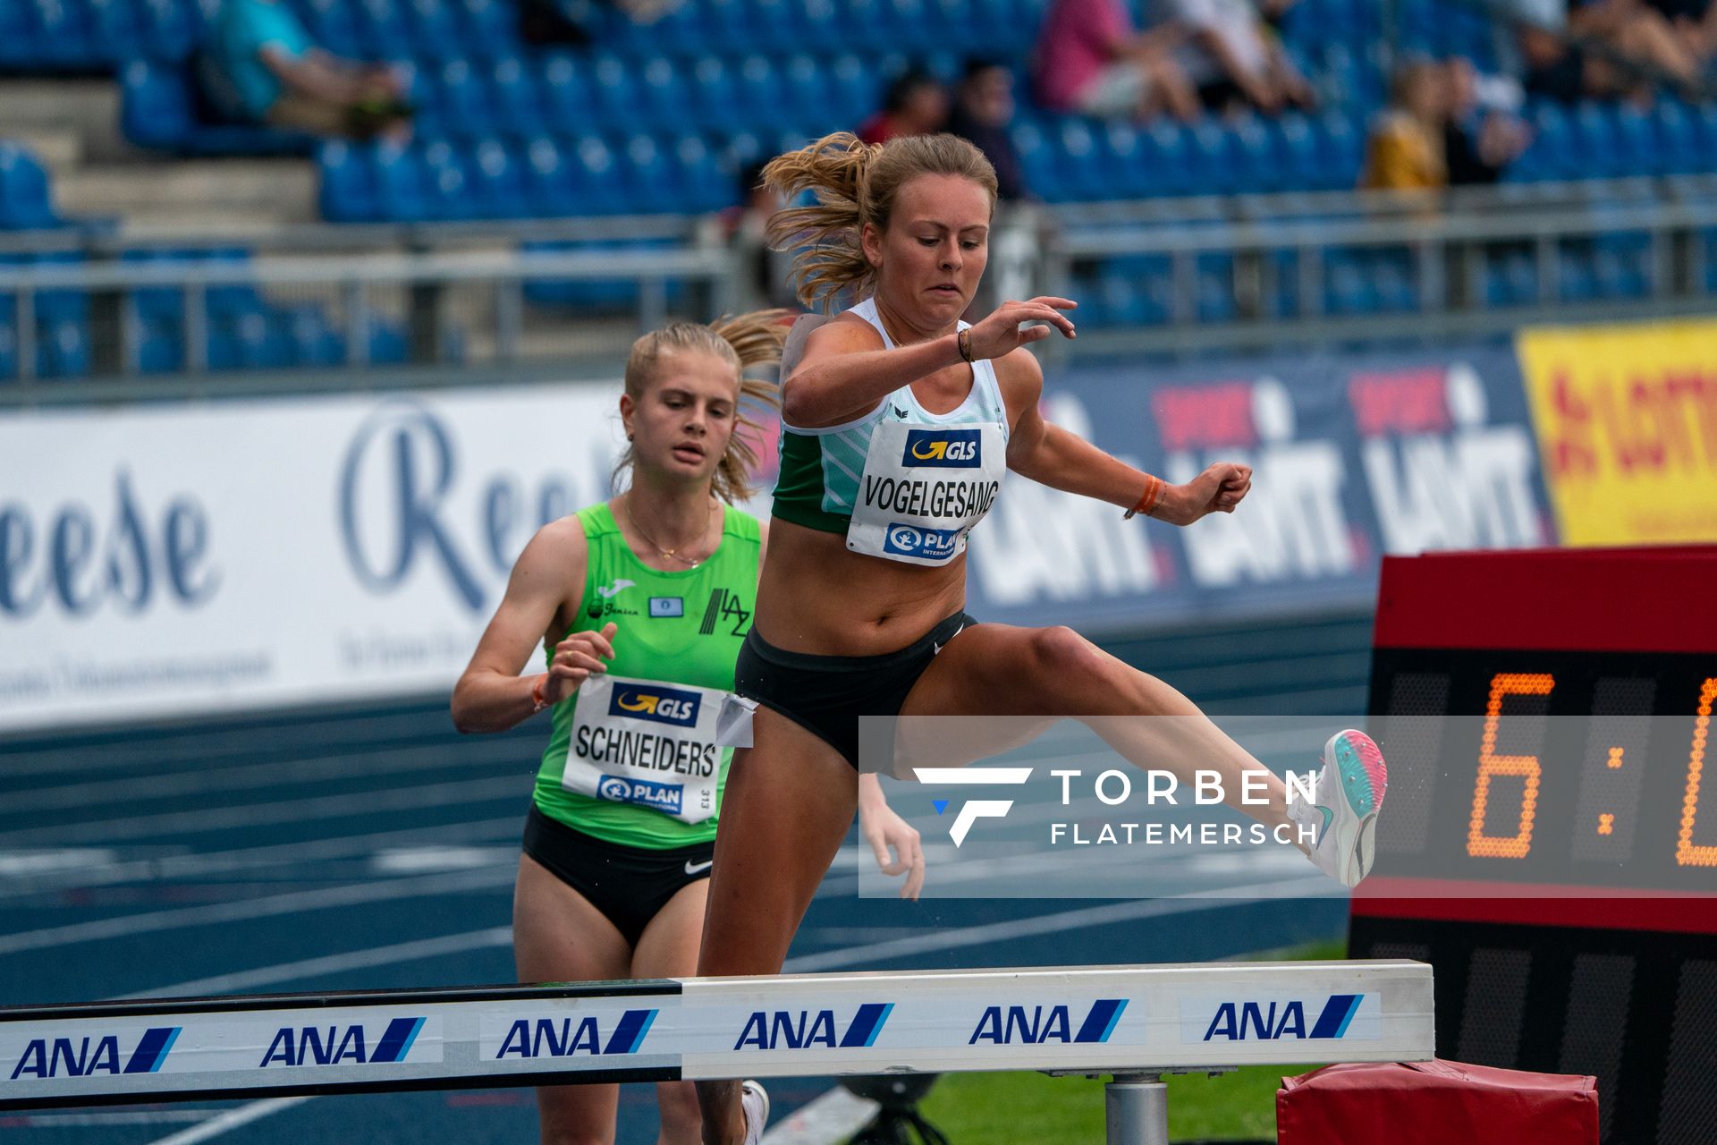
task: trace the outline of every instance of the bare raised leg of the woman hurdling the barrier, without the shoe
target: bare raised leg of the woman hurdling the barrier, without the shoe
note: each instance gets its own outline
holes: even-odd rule
[[[903,716],[1173,716],[1085,719],[1138,767],[1192,781],[1223,776],[1224,802],[1269,826],[1288,821],[1288,791],[1185,695],[1109,656],[1071,628],[974,625],[950,640],[907,697]],[[1243,805],[1241,772],[1259,772],[1267,805]]]

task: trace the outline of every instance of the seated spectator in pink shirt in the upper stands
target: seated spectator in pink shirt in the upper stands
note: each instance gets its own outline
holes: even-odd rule
[[[1174,62],[1176,38],[1135,31],[1123,0],[1056,0],[1037,36],[1037,98],[1102,118],[1195,118],[1198,96]]]

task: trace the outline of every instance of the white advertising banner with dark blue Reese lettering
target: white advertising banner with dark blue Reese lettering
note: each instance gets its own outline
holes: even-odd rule
[[[616,391],[0,419],[0,730],[452,688]]]

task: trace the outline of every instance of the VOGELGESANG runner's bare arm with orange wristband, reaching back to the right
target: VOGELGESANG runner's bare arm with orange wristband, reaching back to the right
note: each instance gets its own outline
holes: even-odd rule
[[[1133,508],[1150,476],[1118,457],[1104,453],[1078,434],[1044,421],[1037,400],[1044,373],[1030,354],[998,362],[998,378],[1008,405],[1018,409],[1008,436],[1008,469],[1051,489]],[[1205,513],[1233,513],[1252,489],[1252,469],[1217,462],[1183,486],[1166,486],[1152,517],[1173,525],[1190,525]]]

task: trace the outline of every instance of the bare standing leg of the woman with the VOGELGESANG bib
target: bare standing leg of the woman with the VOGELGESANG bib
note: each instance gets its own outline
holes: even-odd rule
[[[733,752],[699,977],[778,973],[810,896],[858,809],[858,776],[786,716],[757,709],[752,747]],[[706,1145],[740,1145],[738,1081],[699,1081]]]

